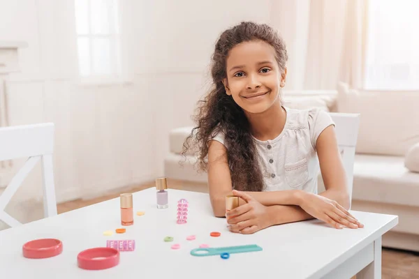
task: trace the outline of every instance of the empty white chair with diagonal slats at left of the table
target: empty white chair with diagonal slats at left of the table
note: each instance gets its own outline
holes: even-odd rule
[[[53,148],[53,123],[0,128],[0,161],[29,157],[0,195],[0,220],[10,227],[21,225],[21,223],[4,209],[39,160],[41,160],[43,172],[44,216],[57,215],[52,167]]]

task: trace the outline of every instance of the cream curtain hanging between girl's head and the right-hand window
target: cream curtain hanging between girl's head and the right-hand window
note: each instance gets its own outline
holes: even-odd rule
[[[287,89],[362,88],[367,0],[279,0],[271,22],[288,45]]]

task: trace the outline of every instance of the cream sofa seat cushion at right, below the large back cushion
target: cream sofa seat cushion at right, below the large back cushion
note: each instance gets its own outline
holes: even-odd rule
[[[352,199],[418,206],[419,174],[403,156],[355,155]]]

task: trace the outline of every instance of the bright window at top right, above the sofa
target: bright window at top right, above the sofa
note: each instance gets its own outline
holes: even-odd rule
[[[419,1],[369,1],[366,89],[419,89],[418,10]]]

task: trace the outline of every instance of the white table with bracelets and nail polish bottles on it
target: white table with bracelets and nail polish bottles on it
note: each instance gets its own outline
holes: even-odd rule
[[[38,220],[0,232],[0,271],[10,278],[381,278],[381,236],[395,227],[397,216],[352,211],[363,229],[333,229],[318,220],[279,225],[256,234],[228,232],[224,218],[212,216],[207,194],[169,189],[168,209],[156,209],[154,188],[135,193],[134,225],[125,234],[103,236],[120,225],[119,198]],[[177,200],[189,200],[186,225],[176,224]],[[135,213],[134,212],[134,213]],[[210,232],[221,232],[214,238]],[[195,241],[186,236],[196,235]],[[165,236],[175,241],[166,243]],[[33,239],[63,242],[61,255],[27,259],[22,245]],[[77,266],[78,252],[105,246],[108,239],[135,239],[133,252],[121,252],[112,269],[87,271]],[[180,243],[181,249],[170,246]],[[193,257],[191,249],[257,244],[260,252]],[[362,270],[363,269],[363,270]],[[94,276],[94,277],[92,277]],[[182,276],[182,277],[181,277]]]

